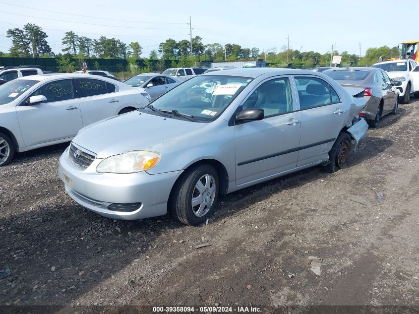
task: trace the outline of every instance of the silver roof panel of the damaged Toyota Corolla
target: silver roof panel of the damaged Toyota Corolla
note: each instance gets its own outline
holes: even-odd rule
[[[289,74],[304,74],[307,75],[307,71],[297,70],[292,68],[275,68],[275,67],[248,67],[248,68],[237,68],[237,69],[227,69],[223,71],[217,71],[217,73],[203,73],[203,75],[231,75],[231,76],[243,76],[256,78],[263,74],[271,75],[289,75]],[[317,74],[313,74],[317,75]]]

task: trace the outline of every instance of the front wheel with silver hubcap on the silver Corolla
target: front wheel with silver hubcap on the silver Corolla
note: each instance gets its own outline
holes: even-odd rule
[[[203,179],[205,176],[210,176],[211,178],[207,181],[206,179]],[[201,192],[198,191],[196,187],[198,186],[199,181],[204,185],[202,180],[205,180],[205,183],[209,182],[209,185],[206,190],[203,190],[203,193],[205,194],[202,194],[201,196]],[[212,187],[214,187],[215,184],[215,193],[213,192],[213,195],[209,194],[209,191],[212,190],[211,184],[213,184]],[[204,188],[206,188],[205,185]],[[205,222],[212,214],[217,202],[218,190],[218,173],[213,166],[202,164],[192,167],[186,170],[175,184],[169,197],[169,211],[181,223],[197,226]],[[194,198],[202,197],[202,202],[199,205],[192,207],[192,197],[194,194],[196,195]],[[205,198],[205,196],[207,196],[207,198]],[[212,198],[210,198],[210,196],[212,196]],[[204,200],[205,204],[202,204]],[[201,208],[203,210],[201,214],[203,215],[198,217],[199,209]]]

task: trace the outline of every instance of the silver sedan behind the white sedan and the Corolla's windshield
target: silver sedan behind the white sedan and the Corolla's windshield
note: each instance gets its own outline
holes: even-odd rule
[[[181,82],[177,77],[160,73],[143,73],[124,81],[129,86],[144,88],[150,94],[151,100],[155,100]]]

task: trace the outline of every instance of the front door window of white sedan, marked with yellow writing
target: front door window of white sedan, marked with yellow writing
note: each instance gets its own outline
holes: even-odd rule
[[[49,82],[36,91],[34,91],[30,96],[39,96],[43,95],[47,97],[47,103],[52,103],[56,101],[69,100],[74,98],[73,83],[71,79],[61,79],[58,81]],[[29,99],[28,98],[28,99]]]

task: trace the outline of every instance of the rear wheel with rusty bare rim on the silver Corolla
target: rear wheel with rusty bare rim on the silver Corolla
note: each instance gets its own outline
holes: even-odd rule
[[[348,133],[340,132],[329,152],[330,163],[326,165],[325,170],[332,173],[345,167],[351,150],[351,136]]]

